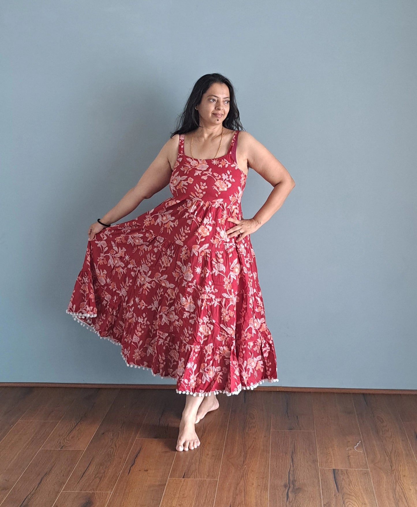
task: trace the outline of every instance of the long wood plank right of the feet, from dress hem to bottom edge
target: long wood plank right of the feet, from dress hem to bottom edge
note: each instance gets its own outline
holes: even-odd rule
[[[267,507],[274,396],[256,389],[232,395],[214,507]]]

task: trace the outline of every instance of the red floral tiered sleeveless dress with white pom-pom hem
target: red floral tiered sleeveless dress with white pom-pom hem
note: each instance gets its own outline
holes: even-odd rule
[[[250,236],[241,219],[246,175],[228,153],[178,157],[173,197],[88,241],[66,312],[121,346],[128,366],[177,379],[178,393],[237,394],[278,381]]]

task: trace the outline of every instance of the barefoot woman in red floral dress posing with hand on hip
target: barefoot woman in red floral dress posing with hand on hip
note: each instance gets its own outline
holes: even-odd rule
[[[243,219],[248,167],[274,188]],[[166,185],[173,197],[111,225]],[[278,381],[250,235],[294,186],[285,167],[242,131],[231,82],[206,74],[138,184],[88,230],[66,311],[120,345],[128,366],[177,379],[177,392],[187,394],[178,451],[200,445],[194,424],[218,408],[217,393]]]

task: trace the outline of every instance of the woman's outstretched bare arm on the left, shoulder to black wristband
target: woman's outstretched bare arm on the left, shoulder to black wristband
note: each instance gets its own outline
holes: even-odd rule
[[[120,201],[102,216],[105,224],[113,224],[128,215],[144,199],[149,199],[170,183],[172,154],[178,149],[178,134],[165,142],[155,160],[143,173],[135,187],[120,199]]]

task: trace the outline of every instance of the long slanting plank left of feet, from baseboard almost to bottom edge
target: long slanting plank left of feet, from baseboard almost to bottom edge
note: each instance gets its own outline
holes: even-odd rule
[[[149,410],[151,389],[121,389],[64,491],[112,491]]]

